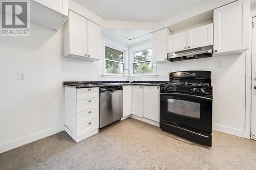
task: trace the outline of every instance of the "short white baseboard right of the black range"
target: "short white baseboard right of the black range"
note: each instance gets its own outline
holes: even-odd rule
[[[230,127],[226,127],[226,126],[222,126],[222,125],[218,125],[218,124],[212,124],[212,130],[220,131],[220,132],[223,132],[223,133],[228,133],[230,135],[235,135],[235,136],[239,136],[239,137],[243,137],[243,138],[246,137],[245,131],[230,128]]]

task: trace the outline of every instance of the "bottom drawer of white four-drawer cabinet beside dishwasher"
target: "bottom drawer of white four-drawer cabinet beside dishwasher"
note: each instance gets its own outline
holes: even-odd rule
[[[99,118],[77,125],[77,136],[84,135],[99,128]]]

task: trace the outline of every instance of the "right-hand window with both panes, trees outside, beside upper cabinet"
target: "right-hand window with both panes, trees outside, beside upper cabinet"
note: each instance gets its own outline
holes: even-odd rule
[[[154,74],[154,64],[152,63],[152,48],[133,53],[133,74]]]

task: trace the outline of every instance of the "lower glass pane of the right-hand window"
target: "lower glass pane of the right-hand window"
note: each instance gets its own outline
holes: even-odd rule
[[[153,63],[151,61],[133,64],[134,74],[153,74]]]

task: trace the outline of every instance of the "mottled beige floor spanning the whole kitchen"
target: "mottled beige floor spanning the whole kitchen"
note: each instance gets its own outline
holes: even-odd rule
[[[60,132],[0,154],[1,170],[146,166],[256,169],[256,141],[214,131],[213,146],[207,149],[156,126],[127,118],[78,143],[66,132]]]

